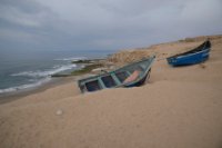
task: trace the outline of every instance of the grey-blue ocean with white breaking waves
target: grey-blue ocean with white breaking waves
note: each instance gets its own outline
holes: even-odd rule
[[[105,58],[114,51],[1,51],[0,95],[44,85],[50,75],[79,69],[72,60]]]

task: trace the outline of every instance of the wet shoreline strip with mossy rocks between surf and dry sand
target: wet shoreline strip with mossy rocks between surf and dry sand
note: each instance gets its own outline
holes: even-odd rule
[[[98,68],[98,61],[100,60],[107,60],[107,58],[101,58],[101,59],[87,59],[87,60],[79,60],[78,61],[72,61],[72,63],[75,65],[85,65],[85,67],[77,69],[71,71],[70,75],[63,75],[63,73],[56,73],[50,76],[50,80],[47,82],[41,83],[40,86],[34,86],[31,88],[26,88],[26,89],[20,89],[11,92],[3,92],[0,93],[0,105],[1,103],[7,103],[33,93],[42,92],[49,88],[57,87],[63,83],[68,83],[70,81],[77,81],[79,77],[83,77],[84,75],[90,73],[90,71],[94,68]],[[85,62],[84,62],[85,61]],[[90,63],[90,65],[89,65]],[[91,65],[92,63],[92,65]],[[74,72],[74,75],[72,75]]]

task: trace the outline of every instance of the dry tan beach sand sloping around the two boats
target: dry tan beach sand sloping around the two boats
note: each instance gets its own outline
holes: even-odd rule
[[[70,81],[0,105],[0,147],[221,148],[222,38],[203,63],[163,60],[201,41],[143,49],[158,59],[142,87],[81,95]]]

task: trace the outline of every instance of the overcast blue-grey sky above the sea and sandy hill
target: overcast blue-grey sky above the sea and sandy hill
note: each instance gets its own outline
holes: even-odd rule
[[[0,0],[0,50],[117,50],[222,33],[222,0]]]

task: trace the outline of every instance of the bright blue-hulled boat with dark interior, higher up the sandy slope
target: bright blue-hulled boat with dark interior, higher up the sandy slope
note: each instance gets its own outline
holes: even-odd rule
[[[169,57],[167,60],[173,67],[194,65],[209,59],[210,50],[211,42],[208,40],[190,51]]]

